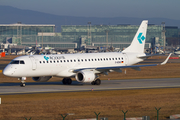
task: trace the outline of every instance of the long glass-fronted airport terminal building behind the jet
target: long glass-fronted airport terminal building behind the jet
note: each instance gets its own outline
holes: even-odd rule
[[[123,49],[131,43],[139,25],[62,25],[61,33],[55,32],[53,24],[0,24],[0,43],[53,48],[95,46]],[[177,27],[148,25],[146,48],[166,45],[168,37],[179,36]]]

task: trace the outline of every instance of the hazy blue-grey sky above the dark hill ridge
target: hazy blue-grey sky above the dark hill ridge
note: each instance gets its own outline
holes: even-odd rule
[[[180,20],[180,0],[0,0],[0,5],[66,16]]]

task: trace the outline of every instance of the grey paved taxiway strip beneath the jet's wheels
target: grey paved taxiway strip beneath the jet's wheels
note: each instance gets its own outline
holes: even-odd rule
[[[26,87],[20,83],[0,83],[0,94],[26,94],[26,93],[53,93],[96,90],[122,90],[147,88],[173,88],[180,87],[180,78],[161,79],[132,79],[132,80],[102,80],[101,85],[82,84],[76,81],[72,85],[63,85],[61,82],[31,82]]]

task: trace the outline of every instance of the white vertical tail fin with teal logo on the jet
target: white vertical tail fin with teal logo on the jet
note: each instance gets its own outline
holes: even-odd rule
[[[129,47],[122,52],[144,53],[148,20],[143,20]]]

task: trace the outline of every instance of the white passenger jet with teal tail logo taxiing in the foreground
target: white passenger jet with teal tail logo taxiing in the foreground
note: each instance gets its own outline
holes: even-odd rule
[[[140,67],[164,65],[171,53],[161,64],[134,65],[149,57],[144,53],[148,20],[143,20],[135,34],[132,43],[122,52],[77,53],[60,55],[26,55],[13,59],[3,70],[9,77],[21,80],[25,87],[26,77],[32,77],[36,82],[46,82],[52,77],[62,77],[62,83],[70,85],[71,78],[78,82],[100,85],[100,74],[122,72],[124,68],[140,70]]]

